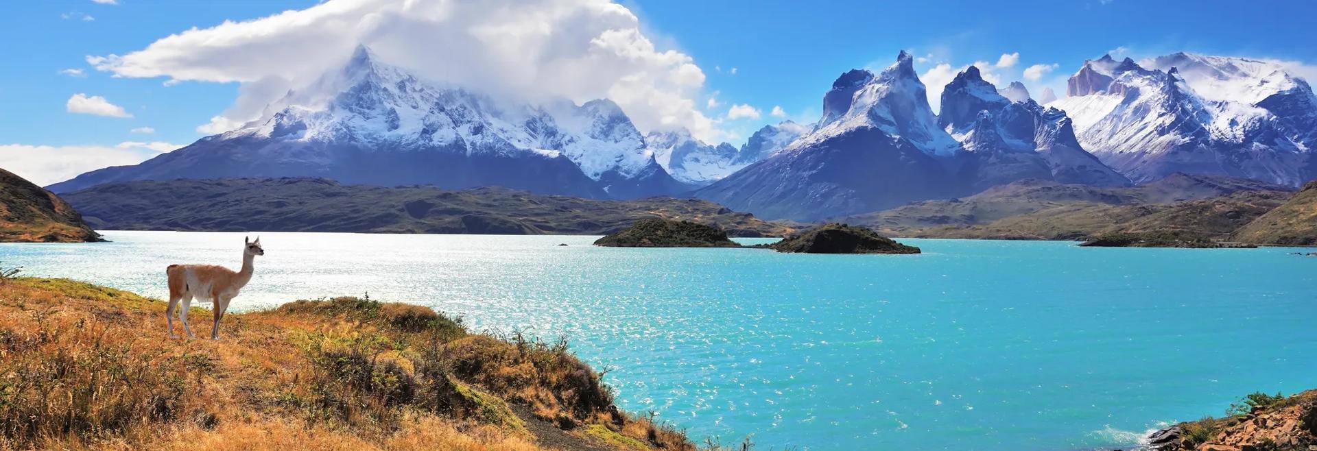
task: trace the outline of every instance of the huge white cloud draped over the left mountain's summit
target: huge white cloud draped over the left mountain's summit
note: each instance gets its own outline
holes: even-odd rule
[[[358,43],[429,79],[527,100],[608,97],[641,130],[685,126],[706,141],[722,133],[697,108],[705,72],[694,59],[657,49],[631,11],[606,0],[328,0],[87,62],[116,76],[259,84],[220,114],[238,124],[342,64]]]

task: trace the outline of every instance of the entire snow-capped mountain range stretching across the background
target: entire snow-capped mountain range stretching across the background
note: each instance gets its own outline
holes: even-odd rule
[[[934,112],[901,53],[842,74],[814,124],[766,125],[740,147],[684,129],[643,134],[607,99],[536,104],[420,79],[361,46],[255,121],[144,163],[49,188],[221,178],[328,178],[547,195],[694,195],[766,218],[814,221],[969,196],[1017,180],[1125,187],[1171,174],[1297,187],[1317,176],[1317,97],[1281,63],[1102,57],[1067,97],[959,72]]]

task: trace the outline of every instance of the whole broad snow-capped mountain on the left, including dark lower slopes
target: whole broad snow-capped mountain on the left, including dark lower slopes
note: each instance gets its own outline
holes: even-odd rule
[[[51,185],[125,180],[325,176],[444,188],[504,185],[583,197],[669,195],[686,187],[657,164],[608,100],[508,104],[420,80],[358,47],[340,70],[290,91],[237,130],[137,166]]]

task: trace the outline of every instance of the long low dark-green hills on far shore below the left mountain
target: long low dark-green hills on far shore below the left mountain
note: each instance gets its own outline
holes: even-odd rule
[[[65,197],[94,226],[116,230],[610,234],[658,217],[716,226],[734,237],[792,231],[695,199],[610,201],[506,188],[341,185],[324,179],[130,181]]]

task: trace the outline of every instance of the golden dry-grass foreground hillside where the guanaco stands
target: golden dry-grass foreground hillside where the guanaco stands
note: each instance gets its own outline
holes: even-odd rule
[[[0,279],[0,448],[694,450],[619,412],[561,342],[356,297],[229,314],[221,341],[180,341],[163,310]]]

